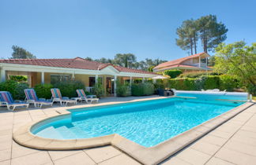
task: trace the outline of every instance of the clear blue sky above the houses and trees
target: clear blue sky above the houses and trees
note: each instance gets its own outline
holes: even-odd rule
[[[209,14],[228,28],[226,43],[256,42],[255,6],[255,0],[0,0],[0,57],[11,57],[16,45],[37,58],[134,53],[137,61],[170,61],[188,55],[175,44],[176,28]]]

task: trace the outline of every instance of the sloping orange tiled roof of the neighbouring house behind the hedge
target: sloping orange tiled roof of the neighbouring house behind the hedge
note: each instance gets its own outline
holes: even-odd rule
[[[174,61],[168,61],[168,62],[164,62],[162,64],[159,64],[157,65],[154,69],[157,69],[157,68],[167,68],[167,67],[171,67],[171,68],[174,68],[172,67],[172,65],[178,65],[178,67],[182,67],[182,66],[179,66],[180,64],[182,64],[184,61],[186,60],[189,60],[191,58],[194,58],[194,57],[200,57],[202,55],[206,55],[209,57],[209,54],[208,53],[197,53],[197,54],[193,54],[189,57],[183,57],[183,58],[179,58],[177,60],[174,60]],[[193,67],[193,66],[190,66],[190,65],[185,65],[186,67]],[[197,67],[194,67],[194,68],[197,68]]]

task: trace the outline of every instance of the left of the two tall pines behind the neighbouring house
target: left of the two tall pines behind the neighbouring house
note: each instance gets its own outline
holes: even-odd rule
[[[176,38],[176,44],[181,49],[190,49],[190,54],[197,53],[197,42],[198,42],[198,26],[197,22],[193,19],[184,20],[181,27],[177,28],[176,34],[179,38]]]

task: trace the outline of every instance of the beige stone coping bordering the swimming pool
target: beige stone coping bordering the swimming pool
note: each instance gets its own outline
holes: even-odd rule
[[[163,97],[152,98],[149,100],[162,98]],[[125,101],[123,103],[129,102],[134,101]],[[61,112],[59,112],[60,114],[58,115],[47,117],[45,119],[40,119],[35,122],[30,122],[24,125],[23,127],[20,127],[17,131],[13,133],[13,140],[20,145],[24,145],[29,148],[43,150],[72,150],[81,148],[100,147],[104,145],[113,145],[114,147],[122,150],[122,152],[126,152],[129,156],[133,157],[134,159],[137,159],[137,161],[140,163],[156,164],[162,162],[164,159],[167,159],[169,156],[175,154],[176,152],[179,152],[187,145],[190,145],[192,142],[198,140],[198,138],[201,138],[205,134],[208,134],[216,127],[219,127],[221,124],[227,122],[229,119],[232,119],[240,112],[243,112],[245,109],[249,108],[251,105],[254,105],[254,103],[245,102],[243,105],[239,105],[238,107],[232,108],[231,110],[229,110],[228,112],[224,112],[220,116],[216,116],[213,119],[209,119],[208,121],[206,121],[205,123],[201,123],[197,127],[191,128],[190,130],[186,130],[182,134],[179,134],[174,138],[170,138],[167,141],[163,141],[160,144],[150,148],[138,145],[136,142],[123,138],[119,134],[110,134],[107,136],[97,138],[57,140],[51,138],[41,138],[31,133],[30,130],[34,125],[36,125],[36,123],[41,123],[45,120],[56,117],[69,116],[69,108],[67,108],[66,110],[62,110]]]

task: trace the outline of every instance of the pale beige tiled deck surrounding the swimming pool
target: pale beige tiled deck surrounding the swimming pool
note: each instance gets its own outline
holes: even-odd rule
[[[152,97],[112,97],[100,104],[145,100]],[[77,105],[78,107],[89,105]],[[41,151],[25,148],[12,139],[24,124],[58,114],[65,107],[18,110],[0,109],[0,164],[140,164],[112,146],[75,151]],[[71,106],[70,108],[75,108]],[[195,141],[162,164],[256,164],[256,105]]]

